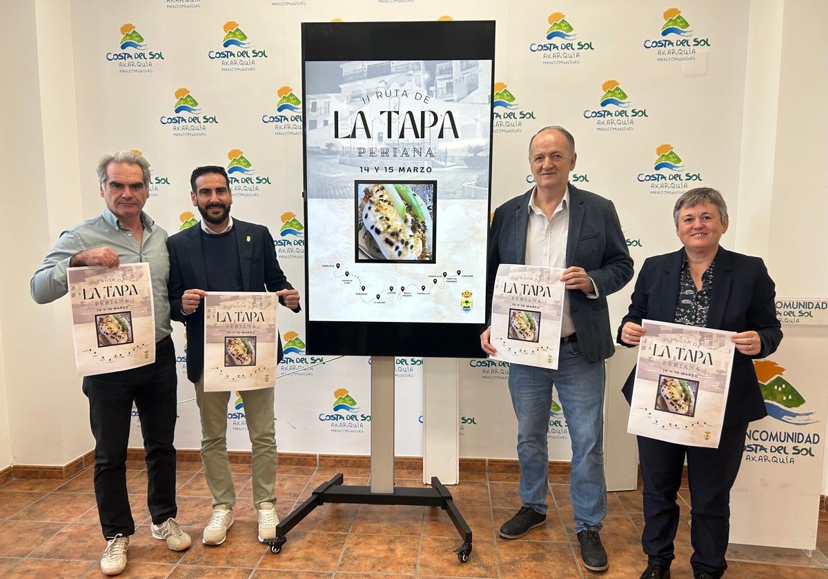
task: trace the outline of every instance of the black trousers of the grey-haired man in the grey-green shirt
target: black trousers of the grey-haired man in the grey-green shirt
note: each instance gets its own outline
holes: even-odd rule
[[[127,445],[132,401],[147,453],[147,507],[154,524],[175,517],[176,350],[166,337],[148,366],[84,377],[89,425],[95,438],[94,487],[105,538],[135,533],[127,494]]]

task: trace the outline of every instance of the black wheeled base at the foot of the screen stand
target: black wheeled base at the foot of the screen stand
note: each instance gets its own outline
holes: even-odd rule
[[[369,486],[347,486],[343,485],[341,473],[335,475],[330,481],[322,483],[313,491],[310,498],[291,511],[279,524],[276,525],[276,538],[265,541],[270,545],[272,553],[282,551],[282,545],[286,542],[286,534],[299,524],[312,510],[325,503],[355,503],[359,505],[413,505],[413,506],[439,506],[449,514],[451,522],[455,524],[463,544],[455,549],[460,562],[469,560],[471,553],[471,529],[466,524],[460,510],[457,509],[451,493],[440,483],[436,476],[431,477],[430,489],[416,489],[410,487],[399,487],[391,494],[374,493]]]

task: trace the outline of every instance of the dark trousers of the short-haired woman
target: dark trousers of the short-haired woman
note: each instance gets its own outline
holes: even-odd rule
[[[693,572],[721,577],[730,534],[730,489],[736,481],[748,425],[723,428],[718,448],[689,447],[638,437],[644,482],[641,545],[649,561],[670,562],[679,522],[676,498],[687,459]]]

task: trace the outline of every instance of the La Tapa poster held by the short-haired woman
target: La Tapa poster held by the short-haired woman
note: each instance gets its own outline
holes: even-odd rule
[[[643,320],[627,432],[718,447],[735,347],[732,332]]]

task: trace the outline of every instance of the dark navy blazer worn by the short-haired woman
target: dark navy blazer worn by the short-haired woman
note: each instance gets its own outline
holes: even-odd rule
[[[635,282],[632,303],[618,331],[627,322],[641,323],[642,319],[674,322],[681,282],[681,263],[684,249],[648,257]],[[776,352],[782,341],[782,324],[776,317],[776,290],[764,262],[758,257],[745,256],[720,247],[715,257],[713,287],[710,291],[710,311],[707,328],[747,332],[755,330],[762,346],[753,356],[738,350],[734,353],[730,372],[730,389],[724,408],[724,427],[746,424],[768,414],[762,397],[752,358],[764,358]],[[629,344],[624,344],[629,346]],[[623,385],[623,394],[629,402],[633,396],[635,368]]]

